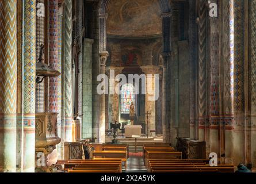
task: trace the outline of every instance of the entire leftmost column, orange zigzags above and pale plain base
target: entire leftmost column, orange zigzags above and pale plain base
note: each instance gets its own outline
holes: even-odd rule
[[[0,1],[0,172],[16,172],[17,1]]]

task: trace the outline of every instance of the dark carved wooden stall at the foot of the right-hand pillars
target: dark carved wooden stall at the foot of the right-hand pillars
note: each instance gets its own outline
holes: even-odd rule
[[[178,137],[176,149],[182,152],[182,159],[205,159],[205,141]]]

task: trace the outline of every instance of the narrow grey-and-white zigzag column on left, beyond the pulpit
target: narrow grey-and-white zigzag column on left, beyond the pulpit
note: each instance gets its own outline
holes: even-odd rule
[[[64,10],[64,141],[72,141],[72,1],[65,1]]]

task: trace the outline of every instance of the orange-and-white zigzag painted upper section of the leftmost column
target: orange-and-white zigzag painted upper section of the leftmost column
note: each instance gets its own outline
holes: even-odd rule
[[[0,1],[0,113],[16,113],[16,0]]]

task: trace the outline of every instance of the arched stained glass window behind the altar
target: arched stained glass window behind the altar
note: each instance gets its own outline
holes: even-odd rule
[[[127,83],[126,85],[123,85],[121,89],[122,114],[129,114],[132,102],[135,109],[135,87],[132,84]]]

